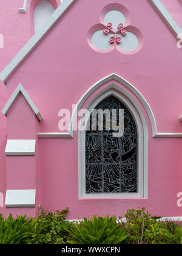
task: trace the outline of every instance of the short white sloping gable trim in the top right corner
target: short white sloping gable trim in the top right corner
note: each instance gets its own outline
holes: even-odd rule
[[[158,13],[162,16],[164,21],[167,23],[167,25],[170,27],[172,32],[177,36],[179,34],[182,34],[181,27],[176,23],[174,18],[170,15],[170,13],[167,11],[166,7],[162,4],[161,0],[149,0],[152,5],[157,9]]]

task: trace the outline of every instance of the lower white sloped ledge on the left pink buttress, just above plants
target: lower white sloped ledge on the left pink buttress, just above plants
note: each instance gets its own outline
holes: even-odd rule
[[[35,207],[36,190],[7,190],[5,207]]]

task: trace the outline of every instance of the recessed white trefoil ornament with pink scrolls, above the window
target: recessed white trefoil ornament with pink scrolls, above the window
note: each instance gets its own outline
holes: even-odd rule
[[[112,8],[113,7],[113,8]],[[140,30],[130,25],[128,10],[120,4],[109,4],[101,12],[101,23],[89,30],[88,43],[96,52],[118,50],[134,54],[143,46]]]

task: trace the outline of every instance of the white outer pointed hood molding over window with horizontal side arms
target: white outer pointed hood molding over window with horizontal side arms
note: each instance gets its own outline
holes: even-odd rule
[[[150,108],[150,105],[148,104],[146,99],[144,99],[143,95],[124,78],[118,76],[117,74],[110,74],[109,76],[104,77],[103,79],[99,80],[94,85],[92,85],[92,87],[90,87],[86,91],[86,93],[84,93],[83,96],[81,96],[78,103],[76,104],[75,109],[73,110],[68,132],[66,132],[66,133],[65,132],[64,133],[52,133],[52,132],[39,133],[39,138],[73,138],[73,127],[75,126],[76,116],[77,116],[78,111],[80,110],[80,108],[82,107],[84,102],[86,101],[86,99],[89,98],[89,96],[96,89],[101,87],[101,85],[104,85],[107,82],[112,81],[112,80],[115,80],[116,82],[119,82],[120,84],[124,85],[124,87],[129,89],[133,94],[135,94],[136,98],[138,98],[140,100],[141,104],[143,105],[144,109],[147,112],[147,115],[149,116],[150,124],[152,127],[152,137],[153,138],[181,138],[182,137],[182,133],[158,133],[155,116],[153,115],[152,109]],[[109,88],[114,88],[117,91],[123,92],[123,90],[120,87],[118,87],[117,85],[115,85],[113,83],[104,90],[109,90]],[[98,95],[96,95],[95,98],[97,96]],[[130,99],[130,101],[132,101],[133,105],[136,106],[136,101],[130,96],[130,94],[128,94],[127,97]],[[92,100],[94,100],[95,98],[93,98]],[[143,112],[141,109],[138,111],[140,112],[140,115],[143,115]]]

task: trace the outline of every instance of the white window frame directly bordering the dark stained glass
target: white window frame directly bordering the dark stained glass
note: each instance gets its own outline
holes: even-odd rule
[[[116,92],[119,91],[120,93]],[[87,106],[89,112],[96,107],[104,98],[113,95],[123,101],[135,119],[138,129],[138,193],[137,194],[86,194],[85,190],[85,131],[78,131],[78,184],[79,184],[79,199],[87,198],[146,198],[148,197],[148,129],[143,112],[139,105],[130,96],[129,93],[124,91],[118,85],[112,84],[98,93]],[[124,95],[124,96],[123,96]],[[133,107],[133,105],[135,106]],[[142,122],[142,123],[141,123]]]

